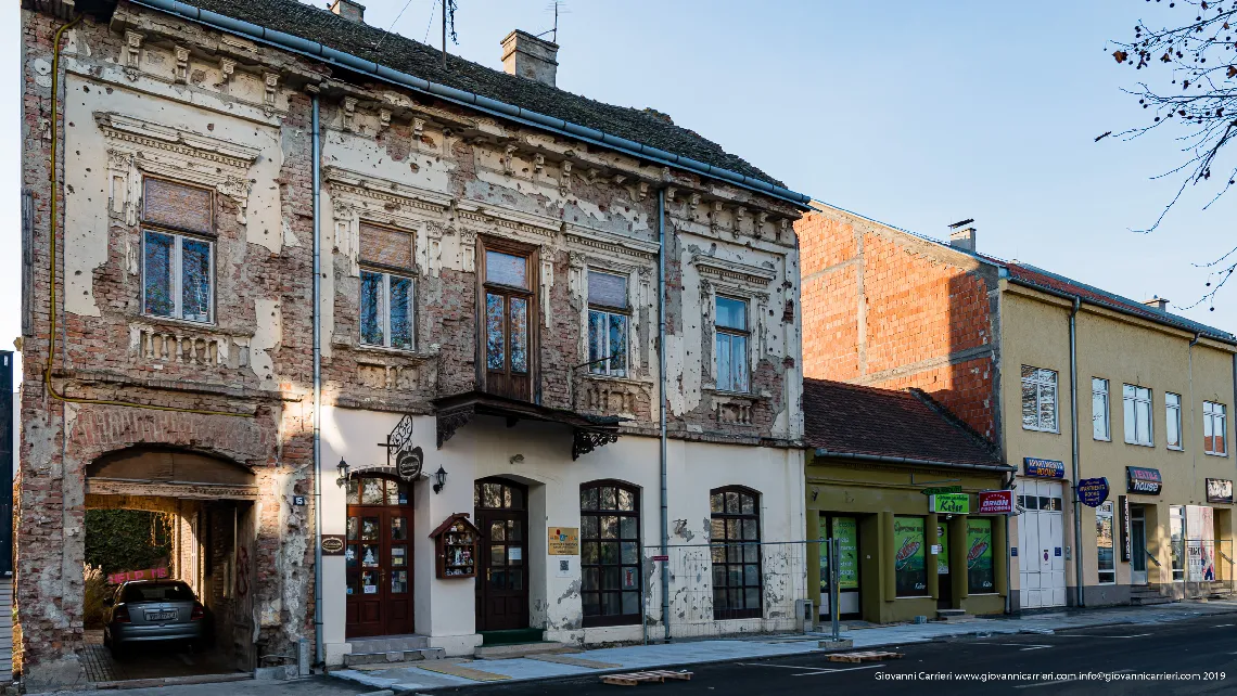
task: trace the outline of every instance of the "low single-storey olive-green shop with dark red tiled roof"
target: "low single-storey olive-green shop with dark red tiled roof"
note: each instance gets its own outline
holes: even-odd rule
[[[978,514],[1013,477],[995,448],[917,389],[807,380],[803,401],[808,535],[837,540],[840,616],[1004,612],[1008,516]],[[828,618],[821,546],[809,545],[808,587]]]

